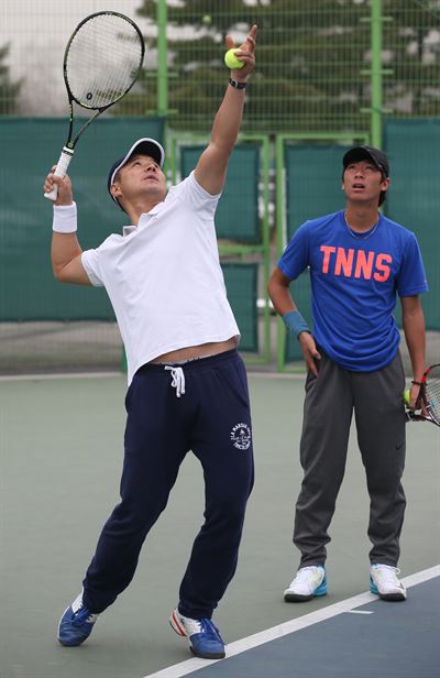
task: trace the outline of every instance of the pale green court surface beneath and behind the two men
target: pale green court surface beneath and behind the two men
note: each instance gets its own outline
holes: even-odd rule
[[[237,576],[215,615],[227,643],[369,588],[369,497],[352,431],[328,547],[329,594],[283,602],[298,565],[292,526],[301,480],[304,379],[251,374],[250,389],[256,482]],[[190,658],[167,621],[202,523],[201,470],[190,453],[132,584],[84,646],[65,648],[56,641],[59,616],[78,594],[119,500],[124,393],[120,375],[0,381],[1,678],[143,678]],[[440,431],[413,423],[407,433],[403,577],[435,566],[440,553]],[[324,660],[320,675],[326,677]]]

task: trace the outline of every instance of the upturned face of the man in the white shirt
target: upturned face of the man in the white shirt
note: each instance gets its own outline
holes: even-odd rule
[[[165,175],[150,155],[133,154],[118,172],[112,186],[112,195],[122,200],[144,197],[161,203],[165,194]]]

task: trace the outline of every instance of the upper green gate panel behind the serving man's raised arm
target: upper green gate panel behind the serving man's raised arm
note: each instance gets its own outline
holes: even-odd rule
[[[187,176],[206,146],[180,146],[180,173]],[[219,238],[234,242],[261,242],[258,218],[260,146],[238,144],[228,165],[227,182],[216,212]]]

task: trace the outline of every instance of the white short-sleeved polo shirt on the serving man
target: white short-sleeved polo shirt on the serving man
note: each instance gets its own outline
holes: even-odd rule
[[[157,356],[239,337],[227,298],[211,196],[194,172],[165,200],[96,250],[82,252],[92,285],[105,286],[125,347],[129,384]]]

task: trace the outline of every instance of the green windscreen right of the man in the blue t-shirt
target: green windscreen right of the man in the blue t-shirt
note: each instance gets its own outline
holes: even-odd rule
[[[392,176],[384,212],[417,236],[430,289],[421,296],[426,325],[440,330],[440,119],[388,120],[384,143]]]

